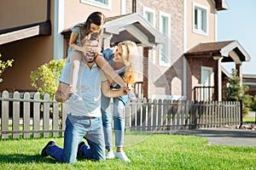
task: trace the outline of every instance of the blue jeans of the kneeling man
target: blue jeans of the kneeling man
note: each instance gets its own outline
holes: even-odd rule
[[[64,133],[64,148],[54,145],[47,147],[47,154],[56,160],[67,163],[76,161],[81,138],[87,140],[89,148],[83,148],[82,155],[96,161],[105,160],[102,117],[67,116]],[[79,150],[81,152],[81,150]]]

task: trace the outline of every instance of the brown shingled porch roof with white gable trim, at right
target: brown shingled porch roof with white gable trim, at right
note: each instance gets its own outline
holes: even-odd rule
[[[242,61],[249,61],[251,59],[246,50],[236,40],[199,43],[185,53],[187,58],[193,56],[204,57],[206,55],[224,57],[222,62],[235,61],[236,63],[241,63]]]

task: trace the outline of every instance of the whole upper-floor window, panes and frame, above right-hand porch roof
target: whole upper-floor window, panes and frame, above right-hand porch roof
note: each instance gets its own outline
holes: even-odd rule
[[[193,31],[207,34],[207,8],[194,3],[193,11]]]

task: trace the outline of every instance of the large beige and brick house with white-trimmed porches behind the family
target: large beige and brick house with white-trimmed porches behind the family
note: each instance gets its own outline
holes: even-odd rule
[[[137,82],[151,99],[222,99],[222,62],[250,60],[239,42],[217,42],[224,0],[9,0],[0,2],[0,53],[15,59],[0,88],[35,90],[30,72],[67,56],[70,28],[93,11],[108,19],[104,48],[137,42]],[[9,14],[8,17],[5,14]],[[200,97],[200,98],[199,98]]]

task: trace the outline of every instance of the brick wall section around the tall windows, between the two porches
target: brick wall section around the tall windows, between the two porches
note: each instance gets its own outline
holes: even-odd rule
[[[160,12],[171,14],[171,66],[159,65],[159,48],[155,50],[154,68],[148,67],[149,71],[147,78],[150,79],[147,83],[148,97],[156,95],[182,95],[182,85],[179,88],[172,88],[172,84],[181,84],[183,81],[183,1],[181,0],[159,0],[137,1],[137,13],[143,15],[143,7],[152,8],[155,11],[155,28],[160,27]],[[132,12],[132,1],[126,1],[126,13]],[[148,56],[149,62],[152,63],[152,56]],[[145,65],[144,65],[145,66]],[[144,71],[143,71],[144,72]],[[146,71],[147,72],[147,71]],[[173,74],[175,73],[175,74]],[[163,81],[164,80],[164,81]],[[145,82],[144,82],[145,83]],[[171,93],[172,92],[172,93]]]

